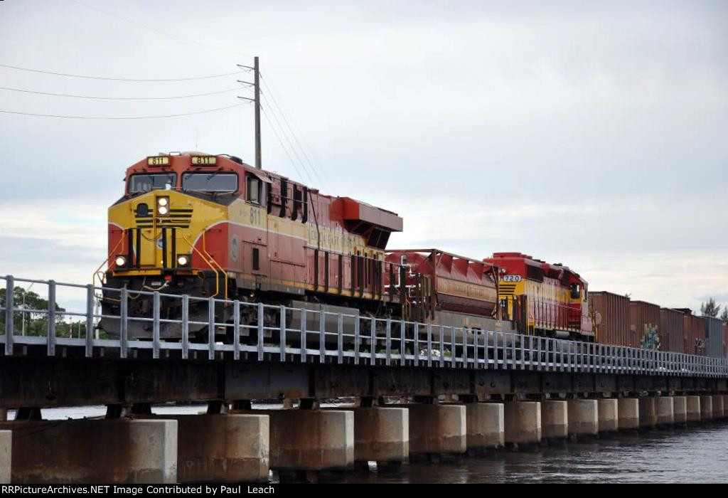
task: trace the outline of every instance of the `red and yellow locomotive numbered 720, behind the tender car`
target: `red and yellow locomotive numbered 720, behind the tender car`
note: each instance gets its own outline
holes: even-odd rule
[[[499,266],[500,306],[519,331],[593,341],[587,282],[579,274],[522,253],[494,253],[483,261]]]

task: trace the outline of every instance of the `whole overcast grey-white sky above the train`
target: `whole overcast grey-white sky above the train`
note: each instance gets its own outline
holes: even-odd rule
[[[520,250],[592,290],[728,304],[726,1],[5,0],[0,47],[7,66],[116,79],[259,55],[268,115],[275,98],[305,151],[289,159],[264,120],[264,167],[400,213],[392,248]],[[0,110],[183,114],[242,103],[250,77],[0,67],[1,87],[36,92],[240,87],[0,90]],[[253,109],[0,113],[0,150],[0,272],[85,283],[124,168],[159,151],[253,162]]]

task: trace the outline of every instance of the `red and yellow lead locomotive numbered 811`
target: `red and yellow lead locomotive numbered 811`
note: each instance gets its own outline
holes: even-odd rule
[[[322,194],[228,155],[146,157],[127,169],[124,185],[108,210],[103,279],[106,288],[130,291],[129,316],[151,316],[151,296],[135,291],[352,314],[401,312],[400,289],[384,286],[385,275],[394,281],[401,272],[384,261],[389,235],[403,228],[396,213]],[[118,316],[119,293],[107,291],[102,306],[105,317]],[[179,299],[162,297],[160,308],[162,320],[181,316]],[[242,322],[257,323],[253,309],[244,309],[250,313]],[[230,323],[231,313],[215,305],[215,322]],[[207,301],[190,301],[191,334],[205,333],[207,316]],[[264,320],[274,325],[278,319],[266,313]],[[119,334],[114,318],[101,327]],[[148,321],[129,327],[130,337],[151,337]],[[181,336],[178,323],[163,321],[160,328],[162,338]]]

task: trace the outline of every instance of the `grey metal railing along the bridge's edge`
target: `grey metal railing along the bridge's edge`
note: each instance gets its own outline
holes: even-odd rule
[[[98,356],[100,349],[105,355],[118,351],[122,358],[130,357],[130,352],[135,350],[151,349],[153,358],[175,351],[182,359],[188,359],[190,352],[197,357],[199,352],[210,360],[232,355],[234,360],[268,362],[728,378],[728,360],[725,358],[347,315],[320,309],[28,280],[12,275],[0,277],[0,280],[4,280],[6,291],[4,301],[0,302],[0,347],[5,355],[13,355],[17,345],[44,345],[47,355],[55,356],[56,347],[60,345],[83,348],[86,357],[94,357],[95,352]],[[26,304],[15,302],[13,295],[18,283],[45,286],[47,309],[30,309]],[[81,294],[83,299],[76,301],[84,301],[83,309],[56,309],[59,288],[65,293]],[[119,316],[102,314],[98,304],[103,293],[107,299],[117,296],[113,299],[119,301]],[[130,300],[140,296],[151,296],[151,310],[136,315],[130,313]],[[162,299],[178,300],[182,309],[179,319],[160,316]],[[207,301],[207,320],[190,319],[190,304],[195,301]],[[215,321],[215,309],[221,307],[229,309],[231,315],[225,323]],[[18,334],[18,321],[28,322],[29,317],[36,317],[35,325],[41,323],[39,335]],[[248,317],[251,323],[243,323],[242,317]],[[253,320],[250,317],[254,317]],[[118,339],[104,339],[95,333],[102,319],[118,320]],[[64,320],[71,321],[70,328]],[[149,339],[130,336],[132,323],[151,325]],[[293,323],[295,327],[291,326]],[[163,339],[160,334],[163,324],[179,325],[181,333]],[[79,329],[75,338],[74,325]],[[81,325],[84,325],[83,334],[80,333]],[[191,325],[206,327],[204,337],[191,336]],[[61,329],[63,333],[70,331],[69,336],[60,336]],[[229,340],[220,341],[218,336]]]

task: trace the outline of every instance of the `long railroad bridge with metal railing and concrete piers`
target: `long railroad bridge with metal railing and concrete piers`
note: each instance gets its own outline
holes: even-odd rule
[[[728,416],[720,358],[214,298],[201,341],[186,314],[201,298],[150,291],[149,316],[130,316],[136,292],[2,280],[0,483],[267,481],[269,469],[396,466]],[[47,309],[15,302],[16,285],[45,288]],[[98,311],[103,291],[118,293],[119,317]],[[58,311],[59,293],[84,296],[84,309]],[[161,317],[163,298],[180,299],[182,316]],[[232,307],[232,323],[215,323],[216,306]],[[241,323],[243,307],[255,325]],[[31,314],[44,317],[39,336],[17,332]],[[118,338],[100,337],[102,318],[119,320]],[[77,336],[60,336],[59,319]],[[130,337],[132,321],[151,339]],[[162,339],[162,323],[181,336]],[[153,414],[169,402],[207,412]],[[106,418],[41,419],[89,405]]]

